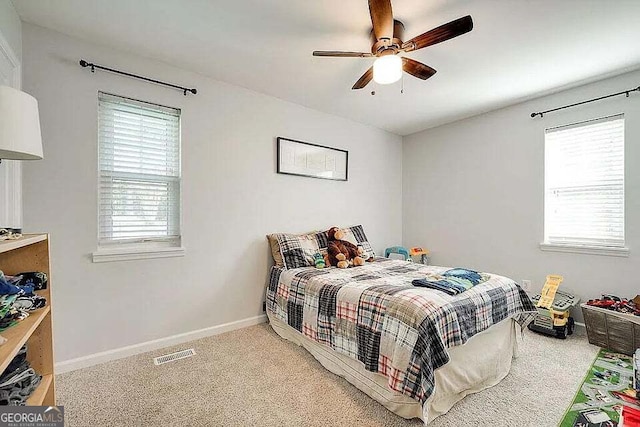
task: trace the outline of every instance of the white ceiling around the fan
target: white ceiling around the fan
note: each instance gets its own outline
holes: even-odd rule
[[[350,89],[370,58],[311,56],[369,51],[366,0],[13,2],[26,22],[399,135],[640,66],[638,0],[393,0],[405,39],[474,20],[472,32],[407,55],[438,73],[407,75],[404,94],[401,83]]]

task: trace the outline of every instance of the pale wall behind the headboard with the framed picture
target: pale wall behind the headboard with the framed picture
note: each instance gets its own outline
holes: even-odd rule
[[[267,233],[363,223],[376,250],[400,242],[400,137],[29,24],[23,43],[45,155],[24,168],[25,229],[51,233],[57,361],[262,314]],[[80,58],[198,95],[92,74]],[[184,258],[89,260],[99,90],[182,109]],[[277,136],[349,150],[349,181],[276,174]]]

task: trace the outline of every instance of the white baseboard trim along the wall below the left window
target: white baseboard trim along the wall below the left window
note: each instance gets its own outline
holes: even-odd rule
[[[258,325],[266,321],[266,314],[261,314],[259,316],[249,317],[247,319],[236,320],[235,322],[223,323],[222,325],[211,326],[209,328],[198,329],[196,331],[185,332],[178,335],[172,335],[169,337],[147,341],[140,344],[102,351],[100,353],[94,353],[88,356],[78,357],[76,359],[64,360],[55,364],[55,372],[56,374],[62,374],[65,372],[75,371],[77,369],[88,368],[89,366],[99,365],[101,363],[110,362],[112,360],[118,360],[140,353],[146,353],[173,345],[183,344],[200,338],[206,338],[213,335],[223,334],[225,332],[235,331],[237,329]]]

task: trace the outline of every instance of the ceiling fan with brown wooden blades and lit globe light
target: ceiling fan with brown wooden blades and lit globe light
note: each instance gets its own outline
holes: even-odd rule
[[[436,73],[436,70],[414,59],[401,57],[401,52],[413,52],[423,47],[458,37],[473,29],[473,20],[467,15],[427,31],[409,41],[403,42],[404,24],[393,19],[391,0],[369,0],[371,15],[371,53],[365,52],[313,52],[313,56],[333,56],[341,58],[370,58],[377,57],[373,67],[358,79],[351,89],[362,89],[373,79],[379,84],[397,82],[406,71],[414,77],[426,80]]]

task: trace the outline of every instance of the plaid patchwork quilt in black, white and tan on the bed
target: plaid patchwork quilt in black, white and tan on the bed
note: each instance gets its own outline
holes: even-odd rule
[[[495,274],[455,296],[411,284],[447,270],[387,258],[348,269],[272,267],[267,310],[424,403],[448,348],[509,317],[525,325],[536,311],[513,280]]]

